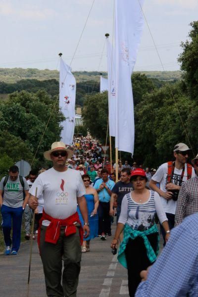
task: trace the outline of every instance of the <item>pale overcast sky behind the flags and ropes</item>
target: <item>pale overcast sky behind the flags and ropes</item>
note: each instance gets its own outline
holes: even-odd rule
[[[58,70],[59,52],[70,64],[92,3],[0,0],[0,68]],[[198,20],[198,0],[145,0],[143,9],[165,70],[178,70],[180,43]],[[112,28],[113,0],[95,0],[72,70],[107,71],[104,34],[111,36]],[[146,23],[135,70],[162,70]]]

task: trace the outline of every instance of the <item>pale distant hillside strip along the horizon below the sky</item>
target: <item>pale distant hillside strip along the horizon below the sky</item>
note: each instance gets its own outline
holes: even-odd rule
[[[97,81],[99,82],[99,73],[97,71],[74,71],[73,74],[77,82]],[[181,79],[181,71],[141,71],[149,78],[157,78],[159,80],[179,80]],[[107,72],[102,72],[103,76],[107,76]],[[39,70],[36,68],[0,68],[0,82],[16,83],[23,79],[50,80],[59,79],[57,70]]]

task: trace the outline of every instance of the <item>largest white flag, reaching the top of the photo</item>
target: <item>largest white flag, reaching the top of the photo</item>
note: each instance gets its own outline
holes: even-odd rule
[[[134,151],[134,106],[131,75],[143,29],[144,0],[115,1],[115,90],[118,150]]]

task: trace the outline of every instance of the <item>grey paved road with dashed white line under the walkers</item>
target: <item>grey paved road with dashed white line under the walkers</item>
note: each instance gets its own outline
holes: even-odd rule
[[[113,229],[115,225],[113,225]],[[91,251],[82,254],[78,297],[128,297],[127,270],[111,254],[110,242],[96,238]],[[0,296],[27,297],[30,242],[21,245],[19,254],[0,254]],[[42,262],[34,241],[29,297],[46,297]]]

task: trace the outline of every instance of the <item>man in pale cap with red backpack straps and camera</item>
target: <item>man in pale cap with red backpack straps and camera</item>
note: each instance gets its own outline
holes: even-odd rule
[[[174,227],[175,210],[179,190],[184,182],[195,176],[192,165],[187,163],[190,148],[183,144],[177,144],[174,149],[175,161],[163,163],[152,176],[149,187],[161,197],[161,202],[166,212],[170,229]],[[157,187],[159,183],[159,188]],[[165,232],[161,228],[165,246]]]

